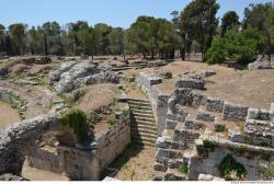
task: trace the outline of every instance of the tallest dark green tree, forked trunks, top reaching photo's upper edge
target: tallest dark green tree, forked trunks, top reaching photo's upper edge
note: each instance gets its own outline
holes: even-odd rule
[[[216,19],[219,4],[216,0],[194,0],[182,11],[180,30],[184,45],[183,55],[190,51],[193,39],[196,39],[201,45],[204,60],[218,25]]]

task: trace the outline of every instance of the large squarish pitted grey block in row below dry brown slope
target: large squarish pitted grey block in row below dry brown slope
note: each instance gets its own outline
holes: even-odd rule
[[[244,120],[248,115],[248,106],[225,103],[222,118],[225,120]]]

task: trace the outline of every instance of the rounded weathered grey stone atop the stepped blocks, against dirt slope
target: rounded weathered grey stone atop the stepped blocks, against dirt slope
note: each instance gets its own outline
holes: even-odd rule
[[[175,88],[192,88],[197,90],[203,90],[205,87],[205,80],[202,76],[191,74],[184,79],[176,81]]]

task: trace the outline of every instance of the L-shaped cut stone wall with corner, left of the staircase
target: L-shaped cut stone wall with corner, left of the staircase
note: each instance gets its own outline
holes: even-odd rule
[[[71,180],[96,181],[102,171],[130,142],[129,115],[121,114],[117,124],[95,140],[93,149],[77,149],[62,145],[56,151],[45,148],[33,150],[27,158],[30,166],[64,173]]]

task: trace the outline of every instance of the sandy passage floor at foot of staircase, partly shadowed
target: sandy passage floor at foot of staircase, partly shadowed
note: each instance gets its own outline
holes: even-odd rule
[[[150,181],[156,148],[130,145],[110,166],[107,173],[121,181]]]

